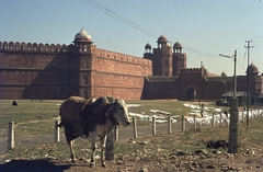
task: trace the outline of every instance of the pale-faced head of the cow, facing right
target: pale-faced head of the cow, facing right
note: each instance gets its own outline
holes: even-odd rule
[[[127,126],[130,124],[128,117],[128,108],[123,99],[115,99],[110,108],[105,113],[105,116],[112,115],[118,125]]]

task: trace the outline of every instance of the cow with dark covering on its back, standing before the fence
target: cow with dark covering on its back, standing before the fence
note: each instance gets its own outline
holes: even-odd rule
[[[66,100],[64,103],[66,102],[68,102],[68,100]],[[125,101],[123,99],[101,96],[95,101],[93,99],[89,99],[85,101],[85,103],[82,102],[81,104],[83,106],[80,105],[81,108],[78,107],[77,102],[72,104],[75,105],[68,108],[77,107],[77,110],[71,112],[72,118],[67,125],[65,125],[65,122],[62,121],[62,115],[67,112],[61,107],[59,112],[61,116],[61,125],[65,126],[66,139],[70,146],[71,160],[73,161],[72,140],[81,135],[84,135],[91,139],[92,152],[90,167],[94,167],[94,153],[96,148],[95,142],[96,136],[99,136],[101,140],[101,164],[102,167],[105,167],[104,151],[107,134],[114,129],[115,125],[127,126],[130,123]],[[78,117],[76,117],[76,115],[78,115]],[[70,116],[70,114],[67,116]],[[80,121],[76,122],[75,118]],[[76,124],[78,124],[78,127],[76,127]]]

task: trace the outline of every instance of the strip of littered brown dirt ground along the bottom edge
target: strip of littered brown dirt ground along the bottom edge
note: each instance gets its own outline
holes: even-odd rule
[[[147,149],[149,151],[149,149]],[[145,150],[145,151],[147,151]],[[248,150],[243,153],[221,153],[216,151],[207,153],[198,150],[196,153],[176,151],[173,153],[136,152],[129,156],[116,154],[115,160],[106,161],[106,168],[101,167],[96,160],[96,167],[90,168],[90,162],[83,157],[77,157],[76,163],[56,159],[36,159],[7,161],[0,164],[1,172],[175,172],[175,171],[263,171],[263,152]],[[3,157],[1,158],[3,160]]]

